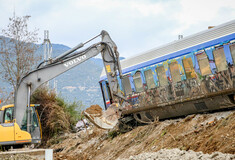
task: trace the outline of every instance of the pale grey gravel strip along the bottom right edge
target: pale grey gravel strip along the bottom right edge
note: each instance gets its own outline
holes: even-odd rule
[[[221,152],[203,154],[202,152],[185,151],[176,148],[161,149],[158,152],[142,153],[136,156],[130,156],[127,159],[118,160],[235,160],[235,155]]]

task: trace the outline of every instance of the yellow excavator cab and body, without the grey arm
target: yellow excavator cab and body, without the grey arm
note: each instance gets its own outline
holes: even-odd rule
[[[13,118],[14,105],[5,105],[0,108],[0,145],[18,145],[41,143],[41,124],[37,110],[37,105],[30,106],[32,121],[30,122],[30,133],[27,132],[27,114],[23,118],[22,125],[19,126]],[[26,111],[27,112],[27,111]]]

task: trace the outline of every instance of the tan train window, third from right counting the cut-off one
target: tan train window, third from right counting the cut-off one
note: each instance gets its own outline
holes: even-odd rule
[[[198,61],[198,65],[199,65],[202,76],[211,74],[209,60],[205,52],[197,55],[197,61]]]

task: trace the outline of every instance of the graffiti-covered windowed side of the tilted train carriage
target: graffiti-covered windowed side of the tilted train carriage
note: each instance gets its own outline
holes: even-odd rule
[[[137,92],[134,89],[135,83],[132,79],[133,92],[127,95],[129,103],[135,108],[157,106],[234,88],[234,46],[235,43],[226,42],[133,71],[131,77],[137,72],[141,73],[143,91]],[[161,66],[165,70],[165,79],[159,77],[162,74],[157,72],[157,68]],[[149,69],[152,70],[156,86],[154,88],[146,87],[149,85],[145,71]],[[164,85],[161,85],[163,80]]]

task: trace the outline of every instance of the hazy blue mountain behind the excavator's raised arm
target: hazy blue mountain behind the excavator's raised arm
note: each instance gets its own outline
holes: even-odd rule
[[[57,57],[69,50],[68,46],[52,44],[52,57]],[[43,46],[38,48],[37,54],[43,56]],[[91,58],[86,62],[56,77],[50,81],[50,87],[57,83],[57,93],[69,102],[82,101],[85,107],[92,104],[104,106],[99,86],[99,77],[103,68],[101,58]]]

